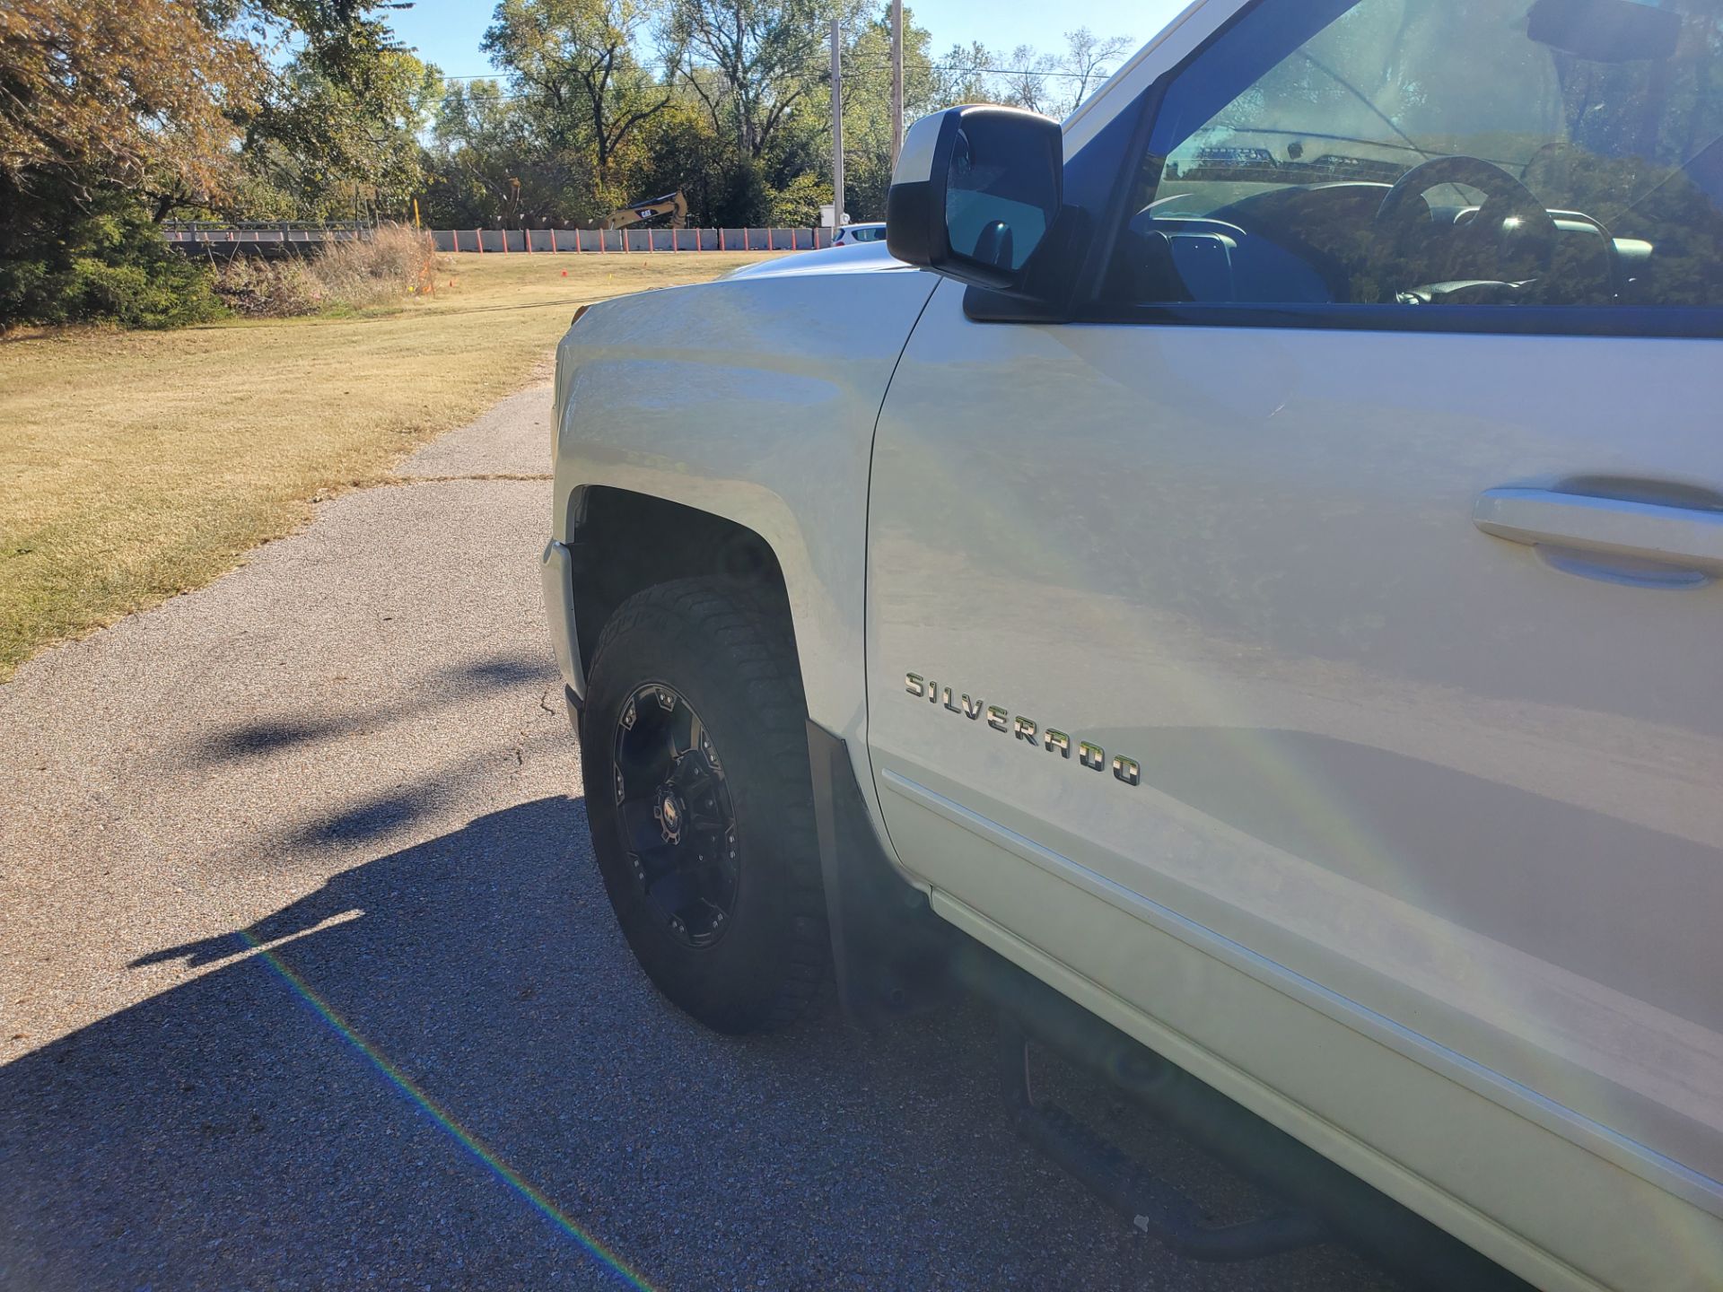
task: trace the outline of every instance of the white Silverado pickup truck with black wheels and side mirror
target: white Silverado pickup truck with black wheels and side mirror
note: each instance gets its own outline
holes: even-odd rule
[[[1289,1202],[1018,1084],[1182,1251],[1723,1287],[1720,138],[1720,0],[1206,0],[917,122],[893,258],[584,312],[544,587],[646,972],[970,965]]]

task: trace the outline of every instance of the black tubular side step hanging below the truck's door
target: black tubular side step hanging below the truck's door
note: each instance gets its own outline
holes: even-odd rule
[[[999,1018],[999,1063],[1017,1134],[1135,1228],[1192,1261],[1256,1261],[1313,1247],[1332,1235],[1308,1211],[1272,1211],[1237,1225],[1210,1225],[1179,1189],[1134,1161],[1058,1104],[1037,1101],[1029,1082],[1029,1037]]]

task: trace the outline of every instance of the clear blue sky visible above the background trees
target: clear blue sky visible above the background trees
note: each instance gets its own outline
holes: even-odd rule
[[[1185,0],[1085,0],[1070,10],[1048,10],[1025,0],[918,0],[910,3],[915,21],[934,33],[934,50],[979,40],[991,50],[1034,45],[1053,52],[1063,47],[1063,31],[1089,28],[1098,36],[1130,36],[1142,45]],[[417,0],[412,9],[389,14],[401,41],[434,62],[445,76],[493,76],[479,52],[479,40],[491,21],[495,0]]]

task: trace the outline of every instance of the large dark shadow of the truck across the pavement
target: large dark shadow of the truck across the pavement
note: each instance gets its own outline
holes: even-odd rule
[[[634,966],[544,798],[165,947],[0,1068],[0,1285],[1375,1287],[1191,1266],[1005,1128],[984,1020],[737,1042]]]

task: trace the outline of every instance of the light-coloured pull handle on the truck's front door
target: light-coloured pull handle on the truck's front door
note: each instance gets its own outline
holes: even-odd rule
[[[1723,512],[1552,489],[1485,489],[1471,522],[1509,543],[1723,574]]]

